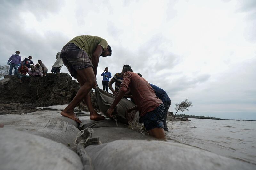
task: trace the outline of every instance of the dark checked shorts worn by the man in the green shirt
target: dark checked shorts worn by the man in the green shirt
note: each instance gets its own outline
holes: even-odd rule
[[[69,43],[62,48],[60,58],[62,58],[63,64],[75,79],[77,75],[76,70],[93,67],[88,54],[74,43]]]

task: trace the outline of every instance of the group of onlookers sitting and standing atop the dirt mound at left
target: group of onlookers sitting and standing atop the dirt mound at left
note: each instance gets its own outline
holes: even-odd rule
[[[38,60],[38,63],[34,65],[31,60],[32,56],[28,56],[28,58],[25,58],[22,61],[19,54],[20,51],[16,51],[7,62],[7,64],[10,65],[9,75],[12,75],[12,70],[14,68],[14,75],[18,76],[20,83],[22,83],[21,78],[26,76],[26,74],[31,77],[42,77],[46,75],[48,69],[41,60]],[[59,73],[63,65],[62,59],[60,58],[60,52],[57,53],[56,59],[56,62],[52,66],[52,73]]]

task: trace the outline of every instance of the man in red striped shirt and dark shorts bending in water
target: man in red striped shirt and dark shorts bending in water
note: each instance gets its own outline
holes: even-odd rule
[[[140,117],[146,130],[148,130],[149,135],[155,138],[165,139],[163,129],[163,102],[156,97],[156,94],[148,81],[141,78],[138,74],[133,73],[131,68],[124,68],[121,75],[123,77],[121,87],[107,113],[111,116],[118,102],[122,99],[127,90],[130,89],[136,106],[128,109],[127,112],[138,109]]]

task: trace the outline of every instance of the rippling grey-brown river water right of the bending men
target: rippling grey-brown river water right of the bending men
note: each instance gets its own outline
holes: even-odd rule
[[[256,164],[256,121],[189,120],[167,121],[167,138]]]

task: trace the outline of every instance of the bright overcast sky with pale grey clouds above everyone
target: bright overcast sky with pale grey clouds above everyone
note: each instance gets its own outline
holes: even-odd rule
[[[51,70],[73,37],[100,36],[112,47],[100,88],[105,67],[129,64],[167,92],[169,111],[188,98],[185,114],[256,120],[255,0],[1,0],[0,21],[1,65],[19,50]]]

